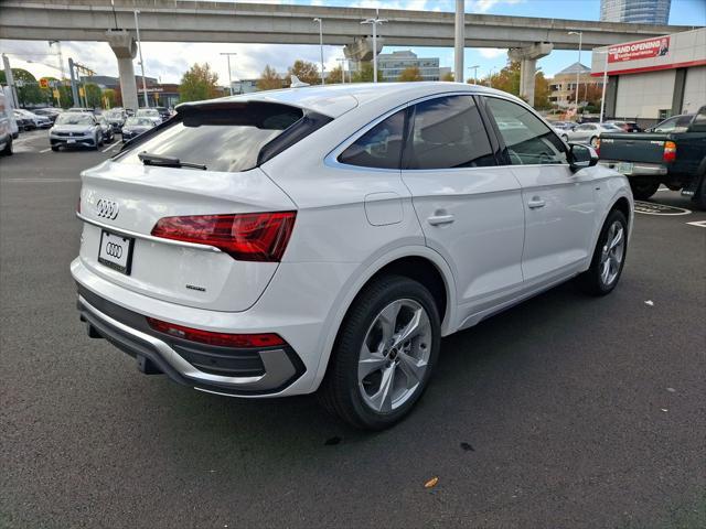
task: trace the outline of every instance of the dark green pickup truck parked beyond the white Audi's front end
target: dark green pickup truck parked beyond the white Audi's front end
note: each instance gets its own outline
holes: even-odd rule
[[[664,184],[706,209],[706,106],[645,132],[602,133],[598,151],[600,164],[628,176],[637,199],[646,201]]]

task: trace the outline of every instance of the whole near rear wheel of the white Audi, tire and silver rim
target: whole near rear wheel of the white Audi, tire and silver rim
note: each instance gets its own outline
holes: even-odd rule
[[[343,321],[319,400],[353,427],[388,428],[424,392],[440,342],[429,291],[408,278],[383,277],[359,294]]]

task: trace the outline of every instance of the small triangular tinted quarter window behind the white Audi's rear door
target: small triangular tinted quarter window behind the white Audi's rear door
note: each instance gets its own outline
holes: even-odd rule
[[[405,110],[384,119],[339,155],[339,162],[376,169],[399,169]]]

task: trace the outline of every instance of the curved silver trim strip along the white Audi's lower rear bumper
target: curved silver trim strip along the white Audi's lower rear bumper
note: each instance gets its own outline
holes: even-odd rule
[[[284,349],[269,349],[258,352],[265,367],[265,375],[259,375],[256,377],[224,377],[221,375],[204,373],[189,364],[174,349],[172,349],[161,339],[118,322],[117,320],[108,316],[107,314],[93,306],[82,295],[78,296],[78,302],[86,311],[90,313],[90,315],[101,321],[105,325],[115,327],[125,334],[150,344],[157,352],[157,354],[159,354],[159,356],[175,371],[178,371],[183,377],[194,381],[204,384],[216,384],[224,389],[233,388],[238,390],[264,391],[268,389],[279,388],[282,384],[292,378],[297,373],[295,366],[289,360],[289,357]],[[213,391],[204,388],[195,389],[217,392],[217,388],[214,388]]]

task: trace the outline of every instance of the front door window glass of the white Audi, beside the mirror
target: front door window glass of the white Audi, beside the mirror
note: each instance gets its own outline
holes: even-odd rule
[[[568,163],[561,140],[534,114],[504,99],[486,100],[512,165]]]

